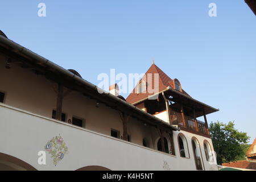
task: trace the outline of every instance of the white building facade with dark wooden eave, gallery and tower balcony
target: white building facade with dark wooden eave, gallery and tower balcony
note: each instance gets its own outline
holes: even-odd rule
[[[100,94],[1,35],[0,75],[0,170],[217,170],[207,123],[196,119],[217,110],[171,86],[152,113],[146,97]],[[181,113],[179,102],[165,105],[168,94],[184,97]]]

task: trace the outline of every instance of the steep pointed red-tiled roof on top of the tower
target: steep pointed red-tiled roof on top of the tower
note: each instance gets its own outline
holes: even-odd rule
[[[145,80],[147,82],[147,88],[150,87],[152,89],[155,89],[155,85],[154,85],[155,84],[155,80],[154,80],[155,73],[157,73],[159,76],[158,92],[165,90],[168,86],[175,89],[174,80],[172,80],[168,75],[166,75],[166,73],[164,73],[162,71],[162,69],[160,69],[157,65],[155,65],[154,61],[153,61],[153,64],[151,65],[151,67],[148,69],[148,71],[144,74],[144,76],[141,78],[141,80],[139,82],[141,82],[142,80]],[[152,80],[148,79],[149,74],[151,74],[150,76],[152,76]],[[137,86],[138,86],[139,82],[133,89],[133,92],[131,92],[130,95],[126,98],[126,101],[129,102],[130,104],[134,104],[135,102],[141,101],[144,98],[147,98],[148,96],[155,94],[155,93],[148,93],[148,92],[138,93]],[[189,96],[184,90],[182,90],[182,93]]]

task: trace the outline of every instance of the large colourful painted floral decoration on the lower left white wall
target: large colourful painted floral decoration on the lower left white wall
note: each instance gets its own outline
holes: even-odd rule
[[[56,166],[65,154],[68,154],[68,147],[66,146],[62,137],[53,137],[44,146],[44,150],[51,154],[53,164]]]

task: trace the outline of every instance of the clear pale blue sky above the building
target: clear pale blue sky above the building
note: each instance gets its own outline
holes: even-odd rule
[[[234,121],[256,137],[256,19],[243,0],[9,0],[0,22],[9,39],[96,85],[111,68],[144,73],[154,58],[193,98],[220,109],[208,122]]]

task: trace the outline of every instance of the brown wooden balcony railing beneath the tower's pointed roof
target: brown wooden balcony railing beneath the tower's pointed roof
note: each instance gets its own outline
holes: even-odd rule
[[[178,125],[179,127],[184,129],[209,135],[208,126],[205,124],[205,122],[199,121],[198,119],[196,119],[197,121],[197,127],[196,127],[196,122],[194,118],[185,115],[184,119],[185,119],[185,126],[184,126],[183,117],[181,113],[174,110],[170,110],[170,120],[172,125]]]

